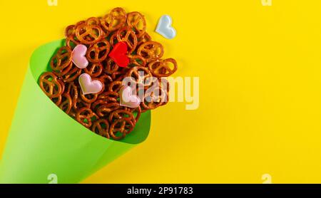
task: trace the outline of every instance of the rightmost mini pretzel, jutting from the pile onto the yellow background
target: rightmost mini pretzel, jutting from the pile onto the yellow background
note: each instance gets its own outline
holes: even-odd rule
[[[170,68],[169,63],[173,65]],[[156,60],[148,64],[149,71],[153,73],[154,76],[158,78],[168,77],[177,71],[177,63],[173,58],[168,58],[165,60]]]

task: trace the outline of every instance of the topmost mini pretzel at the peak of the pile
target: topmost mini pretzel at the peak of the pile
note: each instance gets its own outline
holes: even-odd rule
[[[109,14],[103,16],[101,25],[106,31],[116,31],[126,23],[126,11],[121,8],[113,9]]]

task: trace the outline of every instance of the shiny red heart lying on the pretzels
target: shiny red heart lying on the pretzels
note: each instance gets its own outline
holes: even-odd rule
[[[119,42],[113,46],[113,50],[109,53],[109,57],[115,61],[115,63],[122,67],[126,68],[129,64],[129,58],[127,56],[128,47],[126,42]]]

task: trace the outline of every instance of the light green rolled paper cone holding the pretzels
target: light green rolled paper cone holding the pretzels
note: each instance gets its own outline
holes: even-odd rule
[[[58,183],[78,183],[148,136],[150,111],[124,140],[114,141],[91,132],[51,102],[37,82],[63,43],[48,43],[31,56],[0,164],[0,183],[49,183],[50,174],[56,174]]]

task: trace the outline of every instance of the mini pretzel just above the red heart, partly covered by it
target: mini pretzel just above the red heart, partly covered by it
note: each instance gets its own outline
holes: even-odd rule
[[[123,27],[117,31],[118,42],[126,42],[129,48],[128,54],[133,53],[137,46],[137,37],[131,27]]]

